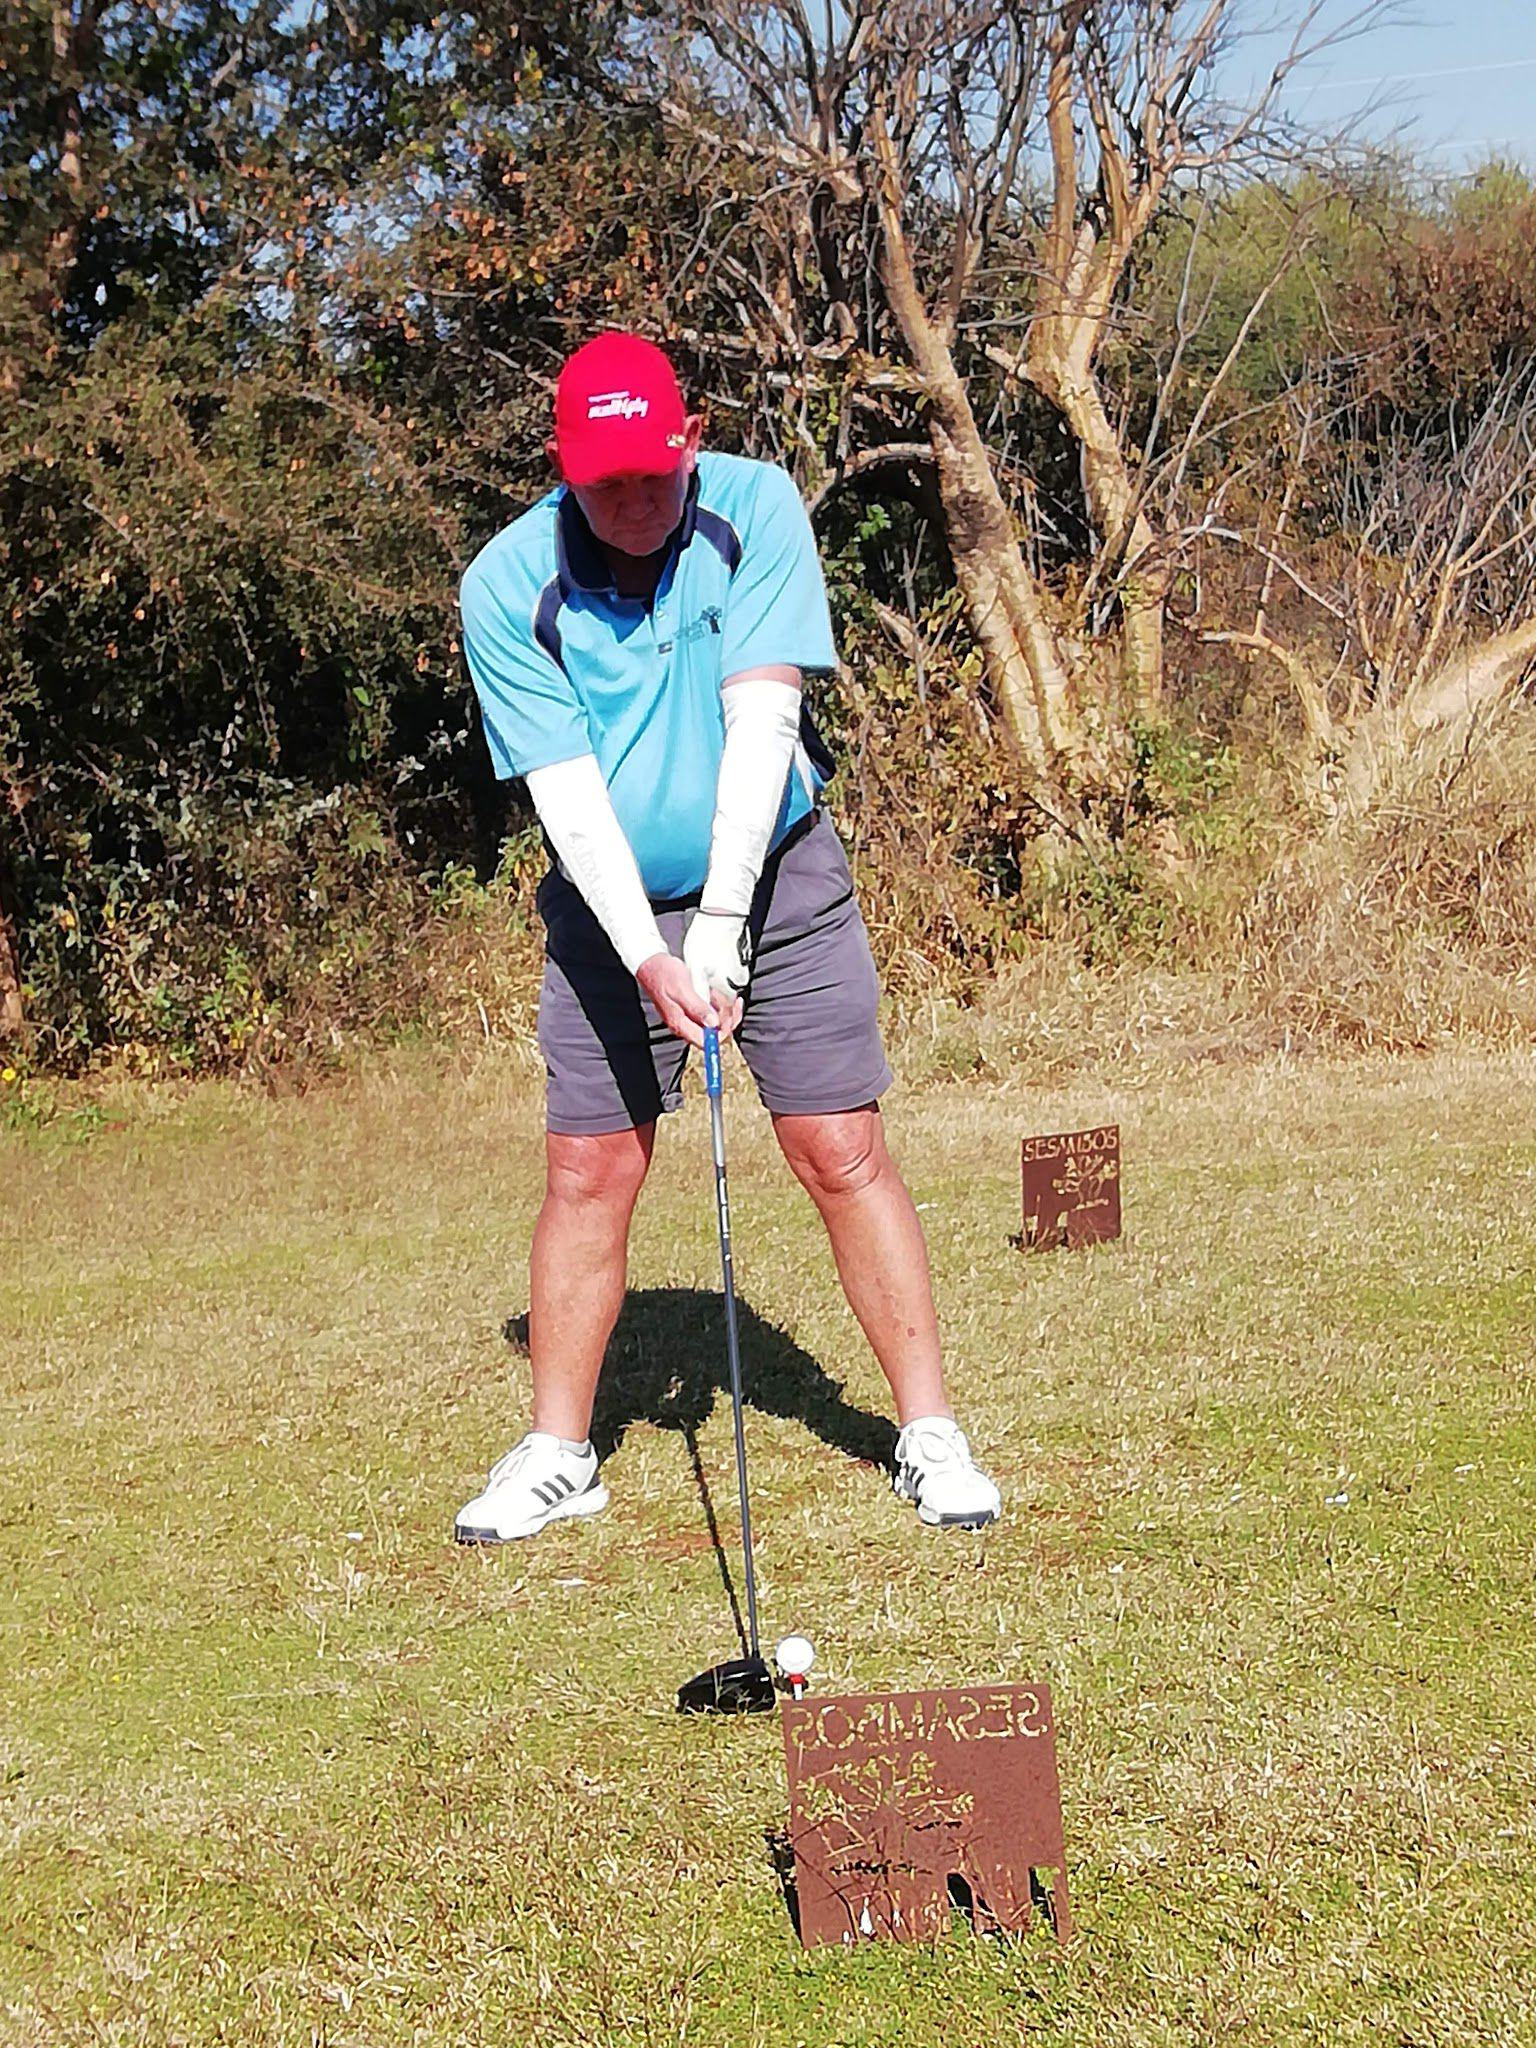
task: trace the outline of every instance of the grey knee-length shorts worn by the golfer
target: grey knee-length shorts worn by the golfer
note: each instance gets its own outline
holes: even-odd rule
[[[545,985],[539,1051],[551,1130],[649,1124],[682,1102],[688,1047],[674,1038],[559,870],[539,885]],[[690,911],[657,905],[678,952]],[[856,1110],[891,1085],[879,983],[848,856],[825,817],[770,854],[752,903],[756,954],[737,1044],[778,1116]]]

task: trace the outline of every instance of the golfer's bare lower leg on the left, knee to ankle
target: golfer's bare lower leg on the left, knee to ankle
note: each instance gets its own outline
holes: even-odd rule
[[[629,1219],[655,1124],[545,1141],[545,1206],[532,1233],[528,1350],[532,1427],[586,1442],[602,1354],[625,1300]]]

